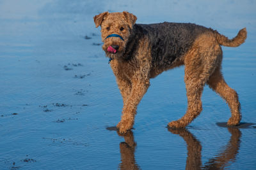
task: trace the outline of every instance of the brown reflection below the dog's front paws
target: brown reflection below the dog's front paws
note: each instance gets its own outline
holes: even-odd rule
[[[134,141],[133,132],[127,131],[125,134],[120,134],[119,136],[124,137],[124,142],[120,143],[120,153],[121,153],[121,163],[119,165],[120,169],[140,169],[136,160],[134,158],[134,152],[136,149],[136,142]]]

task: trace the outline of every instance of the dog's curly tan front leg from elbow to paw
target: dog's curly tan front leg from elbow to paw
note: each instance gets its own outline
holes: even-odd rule
[[[120,133],[125,133],[127,130],[132,129],[137,106],[140,103],[143,95],[147,92],[149,85],[149,79],[143,80],[136,77],[132,80],[131,94],[124,103],[122,119],[118,125],[116,125]]]

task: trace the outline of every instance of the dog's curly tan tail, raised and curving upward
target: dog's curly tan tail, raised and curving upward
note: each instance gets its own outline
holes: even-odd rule
[[[246,28],[241,29],[237,36],[233,39],[228,39],[226,36],[221,35],[218,31],[214,31],[214,33],[218,43],[224,46],[239,46],[244,43],[247,36]]]

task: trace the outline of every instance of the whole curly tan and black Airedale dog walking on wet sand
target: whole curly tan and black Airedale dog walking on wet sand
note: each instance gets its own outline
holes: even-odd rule
[[[96,27],[101,27],[102,49],[109,57],[123,97],[122,119],[116,125],[120,133],[132,128],[150,78],[182,65],[188,108],[184,117],[170,122],[168,127],[184,128],[200,114],[205,84],[227,101],[232,114],[227,125],[239,125],[241,111],[237,92],[227,85],[221,73],[221,45],[244,43],[246,28],[228,39],[218,31],[196,24],[135,24],[137,17],[127,11],[106,11],[93,19]]]

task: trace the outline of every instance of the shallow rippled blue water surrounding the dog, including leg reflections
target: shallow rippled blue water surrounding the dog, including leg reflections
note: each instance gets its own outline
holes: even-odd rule
[[[220,5],[221,4],[221,5]],[[0,1],[0,169],[255,169],[255,1]],[[246,43],[223,47],[223,75],[243,119],[205,87],[188,129],[184,67],[151,81],[134,124],[118,134],[122,98],[93,16],[131,11],[138,23],[193,22]]]

